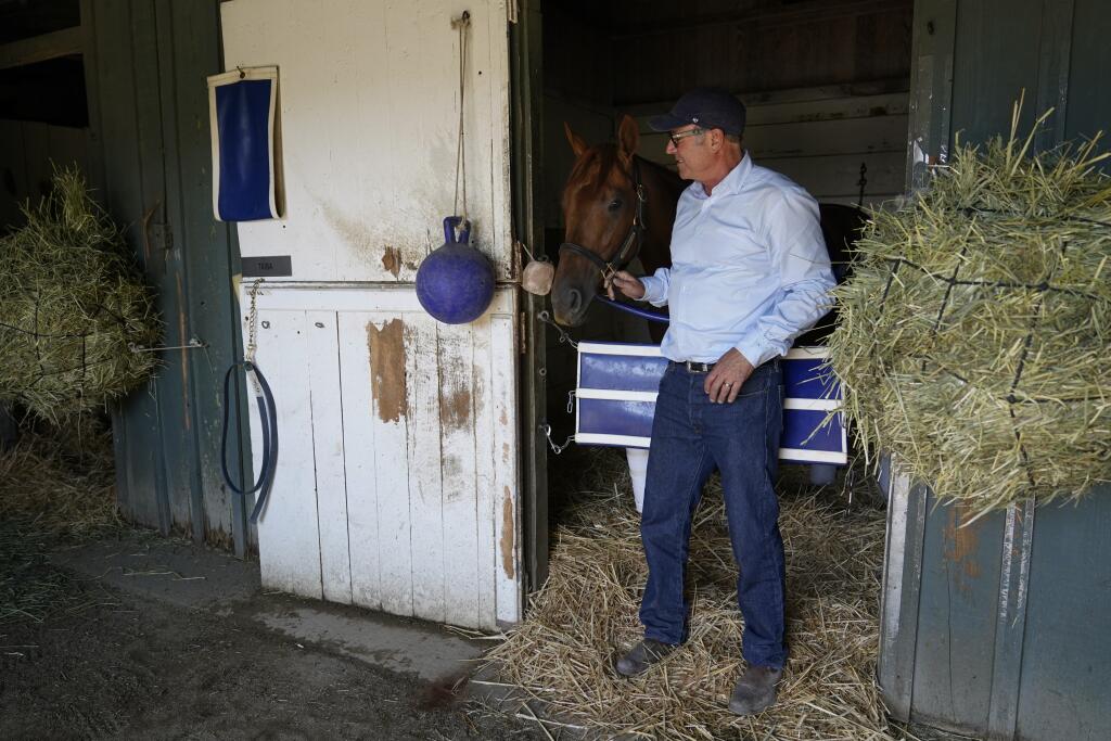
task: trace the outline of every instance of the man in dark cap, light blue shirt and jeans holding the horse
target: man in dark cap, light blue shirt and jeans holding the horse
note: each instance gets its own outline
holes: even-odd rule
[[[729,707],[757,713],[775,701],[783,641],[783,541],[772,488],[782,430],[779,358],[829,308],[834,284],[818,221],[802,188],[752,162],[741,148],[744,106],[723,90],[697,89],[667,116],[668,153],[693,180],[679,199],[671,268],[637,279],[625,296],[670,308],[648,462],[641,540],[649,577],[644,639],[618,660],[632,677],[685,638],[683,581],[691,518],[702,485],[721,471],[737,601],[744,615],[747,670]]]

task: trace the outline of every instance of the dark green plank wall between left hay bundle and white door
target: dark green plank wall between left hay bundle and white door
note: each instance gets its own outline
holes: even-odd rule
[[[241,503],[220,473],[223,371],[242,351],[234,236],[211,211],[204,78],[221,70],[218,4],[86,0],[82,19],[101,198],[157,292],[164,344],[206,346],[160,353],[156,378],[114,410],[119,504],[137,522],[242,553]],[[244,434],[233,414],[237,477]]]

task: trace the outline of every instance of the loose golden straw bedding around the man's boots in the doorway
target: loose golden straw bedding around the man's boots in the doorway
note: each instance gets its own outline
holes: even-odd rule
[[[527,620],[490,654],[507,682],[543,701],[549,715],[602,737],[903,738],[887,721],[873,680],[884,527],[874,503],[858,497],[849,505],[829,489],[781,482],[791,658],[775,707],[742,719],[727,707],[742,668],[743,625],[717,480],[691,541],[690,639],[647,675],[627,680],[613,661],[642,631],[638,514],[623,457],[580,454],[594,481],[580,484],[588,493],[560,515],[548,583]]]

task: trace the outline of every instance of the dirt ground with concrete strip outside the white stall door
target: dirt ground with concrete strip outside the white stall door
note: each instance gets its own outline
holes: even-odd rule
[[[109,449],[0,454],[0,740],[582,738],[474,701],[461,657],[489,642],[264,593],[256,563],[128,528]]]

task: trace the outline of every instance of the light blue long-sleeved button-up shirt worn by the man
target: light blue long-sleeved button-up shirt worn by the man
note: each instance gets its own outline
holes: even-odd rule
[[[661,351],[717,362],[737,348],[753,367],[787,353],[832,306],[818,202],[788,178],[741,162],[705,194],[679,198],[671,268],[642,278],[643,301],[668,306]]]

